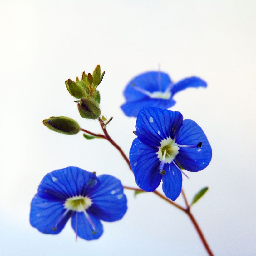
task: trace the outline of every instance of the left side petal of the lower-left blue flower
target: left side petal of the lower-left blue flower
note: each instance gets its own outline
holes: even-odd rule
[[[72,211],[69,211],[63,215],[64,212],[66,209],[62,202],[49,202],[36,194],[31,202],[30,224],[42,233],[58,234],[72,214]],[[54,227],[56,227],[55,231]]]

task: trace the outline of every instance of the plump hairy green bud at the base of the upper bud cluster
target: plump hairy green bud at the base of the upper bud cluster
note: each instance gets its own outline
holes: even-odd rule
[[[91,99],[81,99],[77,104],[79,113],[83,118],[97,119],[101,115],[99,104]]]

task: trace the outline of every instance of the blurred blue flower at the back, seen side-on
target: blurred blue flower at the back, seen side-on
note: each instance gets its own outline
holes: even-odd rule
[[[124,91],[126,103],[121,106],[126,116],[137,116],[145,107],[170,108],[175,93],[188,87],[206,87],[204,80],[192,76],[173,83],[164,72],[150,71],[133,78]]]

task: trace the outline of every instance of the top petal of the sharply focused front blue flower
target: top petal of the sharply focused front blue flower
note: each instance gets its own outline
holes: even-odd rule
[[[180,112],[150,107],[140,110],[136,122],[136,135],[147,145],[159,147],[163,139],[175,138],[182,126]]]

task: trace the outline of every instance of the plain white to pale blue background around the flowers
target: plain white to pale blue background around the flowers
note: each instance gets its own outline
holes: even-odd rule
[[[136,186],[118,151],[82,133],[62,135],[42,120],[69,116],[84,129],[64,81],[101,64],[101,110],[126,154],[135,118],[120,105],[126,83],[157,70],[174,81],[196,75],[207,89],[175,95],[172,110],[195,120],[212,145],[210,165],[189,173],[189,198],[209,191],[192,211],[216,255],[255,254],[255,1],[1,1],[0,247],[2,255],[206,255],[188,217],[154,194],[133,198],[121,221],[104,223],[99,240],[59,235],[29,224],[42,177],[75,165]],[[162,191],[161,186],[158,189]],[[178,198],[179,204],[184,204]]]

